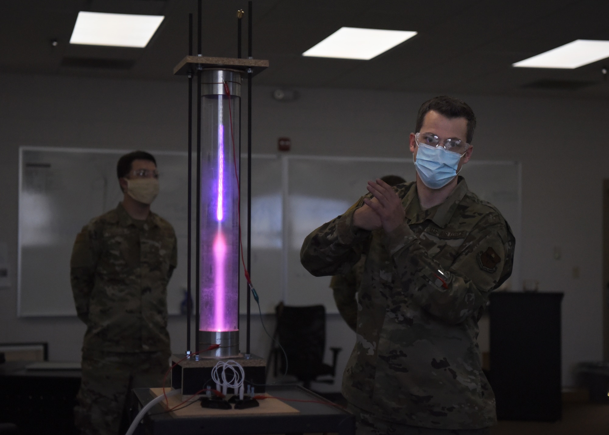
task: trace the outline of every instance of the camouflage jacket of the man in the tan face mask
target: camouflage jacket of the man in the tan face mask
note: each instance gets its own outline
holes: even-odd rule
[[[152,212],[136,221],[119,203],[82,228],[70,266],[76,312],[87,326],[83,349],[169,352],[167,283],[177,266],[169,222]]]

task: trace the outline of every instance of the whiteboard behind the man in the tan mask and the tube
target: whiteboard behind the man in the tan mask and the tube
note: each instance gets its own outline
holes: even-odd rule
[[[19,316],[76,316],[69,281],[72,245],[83,225],[121,201],[116,162],[127,152],[20,148]],[[179,314],[187,277],[188,157],[185,152],[152,151],[152,154],[160,172],[160,193],[152,211],[173,225],[178,239],[178,267],[167,286],[167,309],[169,314]],[[275,156],[254,155],[252,160],[252,270],[256,285],[260,285],[263,312],[271,313],[282,295],[280,279],[276,278],[281,275],[281,162]],[[247,159],[242,158],[241,168],[242,180],[246,180]],[[192,204],[194,209],[194,198]],[[245,241],[245,190],[241,210]],[[193,236],[194,233],[193,224]],[[194,289],[194,267],[192,286]],[[241,289],[244,295],[243,279]],[[240,309],[245,313],[243,297]]]

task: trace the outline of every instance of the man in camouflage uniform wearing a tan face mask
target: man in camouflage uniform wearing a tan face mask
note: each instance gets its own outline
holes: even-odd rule
[[[130,390],[159,387],[169,368],[167,283],[177,266],[169,222],[150,211],[158,194],[152,155],[118,162],[124,199],[76,236],[71,283],[86,324],[76,426],[82,434],[117,435]]]

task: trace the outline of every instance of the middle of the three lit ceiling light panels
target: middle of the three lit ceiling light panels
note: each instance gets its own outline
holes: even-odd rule
[[[303,56],[370,60],[416,34],[406,30],[341,27],[305,51]]]

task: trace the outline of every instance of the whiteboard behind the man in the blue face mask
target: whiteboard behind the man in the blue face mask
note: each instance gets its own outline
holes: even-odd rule
[[[368,193],[368,180],[400,175],[415,180],[410,158],[290,157],[287,187],[287,283],[284,300],[289,305],[323,303],[337,313],[329,290],[330,277],[314,277],[300,264],[303,239],[315,228],[336,218]],[[521,170],[518,162],[470,161],[463,165],[468,188],[501,211],[512,227],[516,241],[520,234]],[[519,282],[519,244],[512,282]]]

